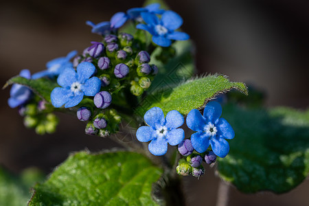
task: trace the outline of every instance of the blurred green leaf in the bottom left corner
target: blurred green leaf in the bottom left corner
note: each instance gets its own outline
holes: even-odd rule
[[[29,188],[41,179],[41,172],[34,168],[25,170],[21,177],[0,168],[0,205],[26,205],[31,197]]]

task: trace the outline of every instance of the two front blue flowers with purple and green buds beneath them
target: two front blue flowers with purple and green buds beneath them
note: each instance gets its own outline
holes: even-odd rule
[[[201,176],[205,170],[201,165],[204,160],[211,164],[216,157],[224,158],[229,152],[229,144],[225,139],[233,139],[234,131],[226,119],[220,118],[222,107],[218,102],[208,102],[204,114],[192,109],[187,115],[187,126],[196,131],[190,139],[184,139],[183,115],[178,111],[170,111],[165,119],[159,107],[150,108],[144,115],[148,126],[141,126],[136,133],[142,142],[150,141],[148,146],[152,155],[165,155],[168,143],[178,145],[178,150],[185,159],[179,161],[176,168],[178,174]],[[209,149],[211,146],[211,149]]]

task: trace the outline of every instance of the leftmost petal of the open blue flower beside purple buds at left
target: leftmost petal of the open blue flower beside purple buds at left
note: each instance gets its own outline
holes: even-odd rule
[[[50,99],[52,100],[52,104],[54,107],[60,107],[63,104],[69,101],[72,92],[69,89],[64,89],[61,87],[56,87],[53,89],[52,93],[50,93]]]

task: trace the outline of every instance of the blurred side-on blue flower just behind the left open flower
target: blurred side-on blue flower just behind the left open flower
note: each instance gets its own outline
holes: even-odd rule
[[[77,51],[72,51],[72,52],[69,52],[67,56],[55,58],[54,60],[50,60],[46,64],[47,70],[34,73],[32,75],[32,79],[43,78],[45,76],[48,76],[49,78],[58,76],[63,70],[65,70],[65,68],[73,66],[70,60],[71,58],[76,56],[76,54],[77,54]]]

